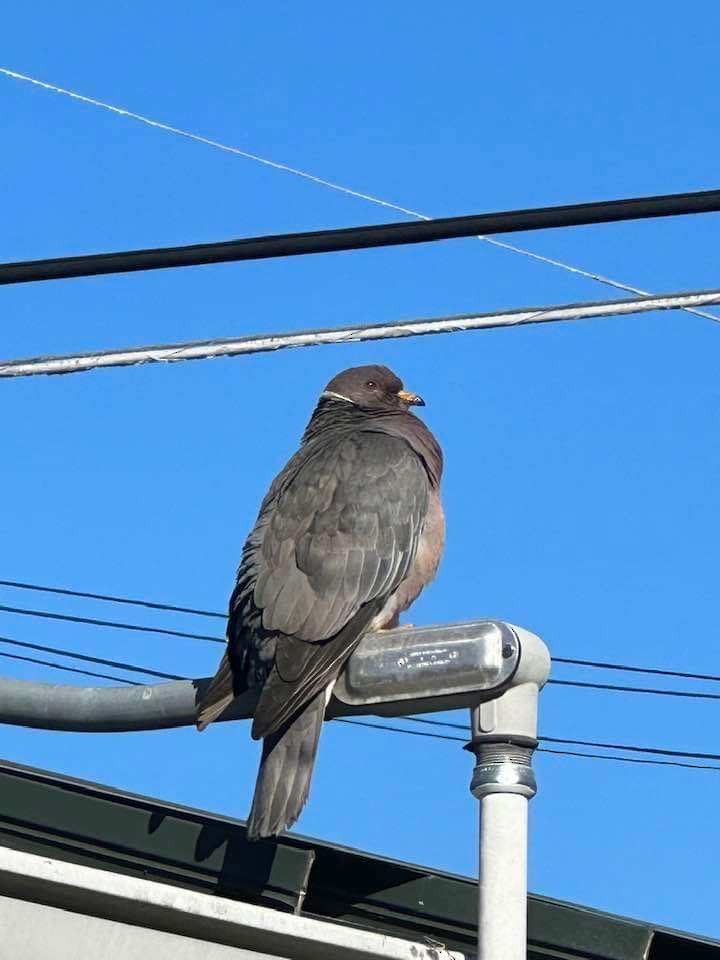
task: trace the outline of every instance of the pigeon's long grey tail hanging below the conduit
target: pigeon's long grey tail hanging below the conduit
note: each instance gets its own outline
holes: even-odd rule
[[[274,837],[300,816],[310,790],[325,704],[322,690],[277,733],[263,740],[247,825],[249,840]]]

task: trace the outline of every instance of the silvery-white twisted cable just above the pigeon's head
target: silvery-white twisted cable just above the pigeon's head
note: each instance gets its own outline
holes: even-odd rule
[[[125,347],[87,353],[30,357],[0,363],[0,377],[29,377],[37,374],[80,373],[99,367],[127,367],[143,363],[175,363],[181,360],[203,360],[212,357],[233,357],[241,354],[266,353],[293,347],[321,344],[358,343],[400,337],[458,333],[494,327],[549,323],[561,320],[582,320],[593,317],[625,316],[651,310],[674,310],[678,307],[720,303],[720,290],[701,290],[638,297],[627,300],[601,300],[588,303],[561,304],[506,310],[499,313],[462,314],[450,317],[403,320],[395,323],[352,324],[343,327],[306,330],[300,333],[252,334],[217,340],[193,340],[155,346]]]

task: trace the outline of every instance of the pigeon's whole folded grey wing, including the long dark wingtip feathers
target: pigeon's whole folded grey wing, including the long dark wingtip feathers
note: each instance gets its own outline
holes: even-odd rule
[[[337,675],[406,576],[428,496],[412,448],[374,432],[321,449],[279,490],[256,558],[254,602],[277,646],[253,736],[276,730]]]

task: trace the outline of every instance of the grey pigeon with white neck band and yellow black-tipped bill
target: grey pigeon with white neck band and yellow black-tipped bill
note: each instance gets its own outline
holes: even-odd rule
[[[413,406],[425,401],[388,367],[333,377],[245,542],[225,653],[196,725],[258,691],[250,840],[295,823],[340,671],[366,633],[399,625],[437,572],[443,454]]]

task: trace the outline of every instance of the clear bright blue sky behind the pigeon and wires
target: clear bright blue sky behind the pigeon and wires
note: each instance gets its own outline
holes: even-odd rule
[[[717,186],[709,2],[461,2],[440,15],[424,0],[159,0],[71,13],[8,9],[0,65],[431,215]],[[0,110],[2,261],[399,219],[1,77]],[[717,224],[514,242],[649,290],[697,289],[717,286]],[[0,354],[605,296],[459,240],[5,287]],[[497,616],[558,655],[718,672],[718,337],[709,320],[648,314],[5,381],[0,578],[223,609],[319,389],[377,361],[426,397],[447,457],[447,553],[413,622]],[[10,590],[0,602],[217,629]],[[6,636],[170,672],[205,675],[217,657],[212,644],[1,617]],[[716,752],[717,711],[551,688],[541,730]],[[0,755],[244,816],[257,747],[246,724],[202,737],[2,727]],[[720,936],[717,773],[550,755],[536,766],[533,890]],[[459,745],[330,724],[298,829],[472,873],[470,774]]]

